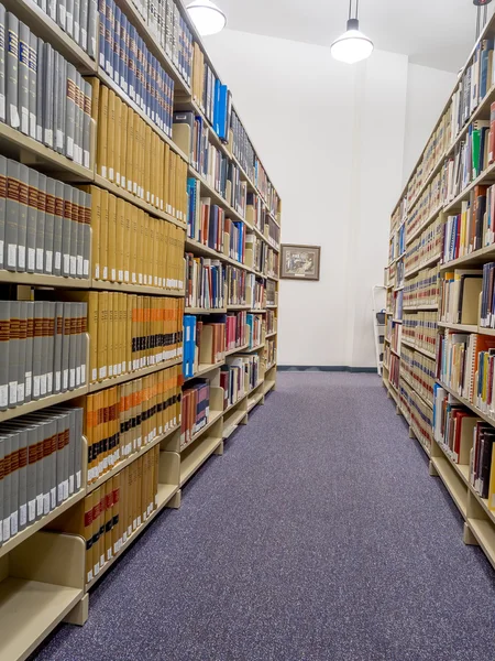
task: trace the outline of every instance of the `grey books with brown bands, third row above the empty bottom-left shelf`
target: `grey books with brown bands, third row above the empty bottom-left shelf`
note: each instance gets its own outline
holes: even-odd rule
[[[0,266],[89,278],[91,196],[0,155]]]

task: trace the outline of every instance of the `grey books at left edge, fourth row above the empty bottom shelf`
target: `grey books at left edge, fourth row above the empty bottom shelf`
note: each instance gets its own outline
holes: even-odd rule
[[[91,86],[3,4],[0,28],[0,121],[89,167]]]

